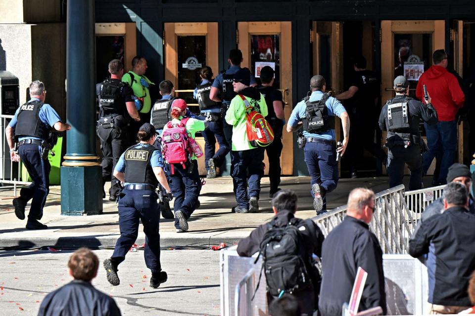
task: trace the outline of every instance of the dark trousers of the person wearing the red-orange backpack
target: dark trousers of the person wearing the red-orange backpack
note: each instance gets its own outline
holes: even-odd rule
[[[239,207],[249,209],[249,198],[261,192],[261,178],[264,175],[264,148],[231,151],[233,156],[233,179],[236,184],[236,202]]]

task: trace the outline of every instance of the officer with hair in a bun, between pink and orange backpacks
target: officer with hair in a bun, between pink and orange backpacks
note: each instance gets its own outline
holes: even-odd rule
[[[216,167],[221,166],[230,148],[223,131],[223,118],[221,113],[221,103],[210,99],[211,80],[213,71],[211,67],[205,66],[200,69],[200,84],[196,86],[193,97],[198,101],[201,116],[209,122],[208,127],[201,132],[203,135],[205,167],[207,178],[216,178]],[[216,140],[219,149],[216,151]]]

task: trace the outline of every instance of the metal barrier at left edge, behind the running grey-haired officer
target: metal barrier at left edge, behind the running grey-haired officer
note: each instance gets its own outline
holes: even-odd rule
[[[6,141],[5,128],[8,125],[12,115],[0,115],[0,183],[1,189],[11,190],[13,188],[14,196],[17,196],[17,186],[30,185],[31,182],[20,181],[21,163],[10,160],[10,149]]]

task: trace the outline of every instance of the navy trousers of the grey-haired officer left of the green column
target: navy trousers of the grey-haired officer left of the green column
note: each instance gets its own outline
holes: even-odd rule
[[[28,219],[40,220],[43,217],[43,207],[45,207],[46,197],[49,193],[51,165],[48,159],[41,158],[40,145],[21,145],[18,148],[18,155],[32,179],[32,183],[28,188],[20,190],[20,198],[25,203],[32,199]]]

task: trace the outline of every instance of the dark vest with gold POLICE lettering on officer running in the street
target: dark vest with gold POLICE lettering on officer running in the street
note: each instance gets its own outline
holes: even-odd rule
[[[140,148],[136,148],[136,146],[125,151],[125,182],[145,183],[156,187],[158,181],[150,165],[150,159],[152,153],[157,149],[150,145]]]

